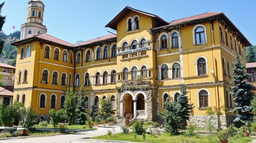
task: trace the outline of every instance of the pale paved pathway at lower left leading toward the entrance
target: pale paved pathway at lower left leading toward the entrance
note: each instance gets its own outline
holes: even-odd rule
[[[90,138],[94,136],[101,136],[106,135],[107,130],[112,131],[113,128],[98,128],[96,130],[87,130],[83,132],[77,132],[73,134],[61,134],[61,135],[55,135],[55,136],[37,136],[32,138],[14,138],[14,139],[4,139],[0,140],[0,142],[6,142],[6,143],[75,143],[75,142],[83,142],[80,140],[81,138]],[[115,133],[121,132],[120,127],[115,127]]]

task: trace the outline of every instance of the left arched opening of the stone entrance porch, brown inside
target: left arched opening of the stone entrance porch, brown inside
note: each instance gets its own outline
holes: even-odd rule
[[[124,114],[124,117],[126,114],[130,113],[130,114],[134,114],[134,105],[133,105],[133,102],[132,102],[132,95],[131,94],[126,94],[124,96],[124,108],[123,108],[123,114]]]

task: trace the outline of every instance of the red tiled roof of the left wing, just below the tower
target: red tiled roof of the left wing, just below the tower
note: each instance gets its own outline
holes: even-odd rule
[[[39,35],[36,35],[35,37],[40,38],[40,39],[44,39],[44,40],[47,40],[47,41],[51,41],[51,42],[54,42],[54,43],[58,43],[58,44],[61,44],[61,45],[73,46],[73,43],[69,43],[69,42],[63,41],[61,39],[55,38],[54,36],[48,35],[47,33],[41,33]]]

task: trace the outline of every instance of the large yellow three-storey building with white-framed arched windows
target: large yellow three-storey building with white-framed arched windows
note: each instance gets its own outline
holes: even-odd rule
[[[84,91],[88,112],[110,98],[119,119],[131,113],[134,119],[158,120],[164,101],[176,101],[185,84],[195,105],[191,123],[204,126],[206,108],[221,106],[223,125],[229,123],[231,69],[236,53],[245,63],[245,46],[251,43],[226,15],[209,12],[168,23],[125,7],[106,27],[116,35],[77,45],[46,33],[14,42],[14,99],[45,119],[50,109],[61,108],[63,92],[73,85],[77,93]],[[30,57],[24,55],[28,46]]]

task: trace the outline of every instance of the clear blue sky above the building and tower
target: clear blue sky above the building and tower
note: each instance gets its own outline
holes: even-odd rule
[[[21,24],[26,22],[27,2],[29,0],[5,0],[1,13],[7,15],[3,27],[5,33],[13,32],[13,26],[16,30],[20,30]],[[221,11],[252,45],[256,45],[256,1],[42,0],[42,2],[45,4],[44,24],[47,26],[47,33],[70,43],[109,35],[107,31],[112,30],[106,28],[106,24],[129,6],[156,14],[168,22],[208,11]]]

